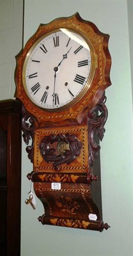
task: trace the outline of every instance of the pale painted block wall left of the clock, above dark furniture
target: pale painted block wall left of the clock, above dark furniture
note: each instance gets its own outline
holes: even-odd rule
[[[13,99],[15,56],[22,49],[23,0],[0,0],[0,100]]]

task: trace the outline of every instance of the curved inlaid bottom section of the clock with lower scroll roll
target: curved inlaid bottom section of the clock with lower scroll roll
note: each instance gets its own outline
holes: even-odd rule
[[[34,189],[45,209],[45,214],[38,218],[43,225],[83,228],[100,232],[104,229],[98,207],[91,197],[89,184],[63,183],[58,191],[51,189],[51,183],[35,182]],[[92,221],[91,218],[96,220]]]

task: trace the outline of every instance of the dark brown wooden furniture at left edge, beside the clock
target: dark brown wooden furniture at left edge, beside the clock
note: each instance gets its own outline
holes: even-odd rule
[[[0,250],[20,255],[21,103],[0,102]],[[5,160],[6,156],[6,160]]]

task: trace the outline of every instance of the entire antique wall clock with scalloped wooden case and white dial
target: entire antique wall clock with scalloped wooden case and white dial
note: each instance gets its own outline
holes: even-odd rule
[[[109,35],[72,17],[41,24],[17,56],[16,97],[42,224],[102,231],[99,140],[111,84]],[[30,145],[31,139],[31,145]]]

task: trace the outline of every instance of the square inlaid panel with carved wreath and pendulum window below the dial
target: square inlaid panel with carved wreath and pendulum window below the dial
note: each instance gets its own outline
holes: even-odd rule
[[[35,130],[34,170],[88,173],[88,126]]]

